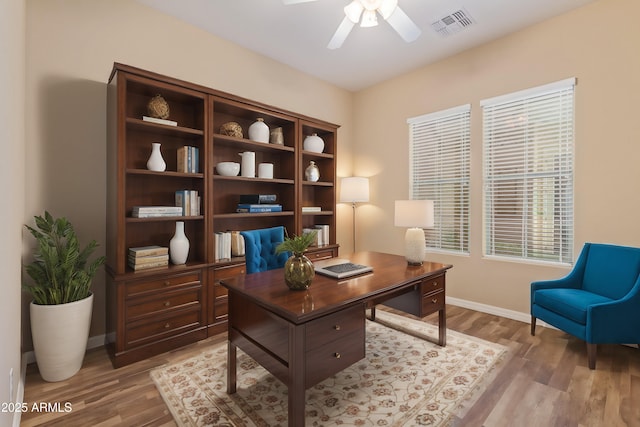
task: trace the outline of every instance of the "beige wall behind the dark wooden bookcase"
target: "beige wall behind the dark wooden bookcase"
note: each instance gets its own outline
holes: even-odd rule
[[[104,253],[106,82],[113,62],[342,124],[338,153],[350,151],[351,93],[133,0],[28,0],[27,19],[25,222],[44,209],[66,216],[81,242],[95,238]],[[350,172],[346,162],[338,168]],[[99,277],[94,285],[92,335],[104,333],[104,283]]]

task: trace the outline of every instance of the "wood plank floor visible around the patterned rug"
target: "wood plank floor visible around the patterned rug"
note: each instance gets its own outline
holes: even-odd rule
[[[437,322],[437,316],[426,318]],[[598,346],[597,369],[587,367],[583,342],[560,331],[447,306],[447,327],[498,342],[511,356],[456,426],[640,426],[640,350]],[[149,370],[195,356],[225,335],[113,369],[103,348],[87,352],[67,381],[44,382],[27,369],[24,401],[70,402],[68,413],[22,414],[22,426],[174,426]]]

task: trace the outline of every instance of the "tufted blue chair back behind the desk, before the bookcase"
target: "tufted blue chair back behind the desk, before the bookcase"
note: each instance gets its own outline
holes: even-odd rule
[[[284,227],[241,231],[247,274],[284,267],[287,252],[276,255],[276,246],[284,242]]]

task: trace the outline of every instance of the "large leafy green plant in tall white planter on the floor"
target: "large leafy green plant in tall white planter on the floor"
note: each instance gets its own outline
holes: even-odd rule
[[[80,249],[73,225],[45,211],[35,216],[36,227],[25,225],[35,237],[34,259],[25,270],[32,283],[31,336],[40,375],[45,381],[62,381],[82,366],[93,309],[92,280],[105,257],[89,263],[98,244]]]

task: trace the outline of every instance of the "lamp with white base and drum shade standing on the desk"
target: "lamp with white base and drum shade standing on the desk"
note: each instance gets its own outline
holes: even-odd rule
[[[424,228],[433,227],[433,200],[396,200],[396,227],[409,227],[404,236],[409,265],[422,265],[425,258]]]

